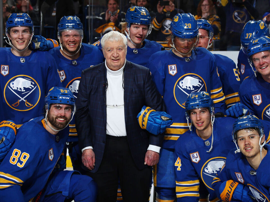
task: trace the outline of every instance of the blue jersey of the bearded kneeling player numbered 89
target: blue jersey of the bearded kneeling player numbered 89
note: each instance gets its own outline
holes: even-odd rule
[[[68,128],[52,135],[45,129],[44,117],[19,128],[16,141],[0,165],[0,198],[29,201],[45,186],[63,152]],[[6,198],[6,197],[5,197]]]

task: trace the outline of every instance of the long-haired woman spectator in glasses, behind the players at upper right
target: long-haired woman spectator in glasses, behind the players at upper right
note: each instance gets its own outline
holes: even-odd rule
[[[196,20],[205,19],[208,20],[214,30],[212,47],[209,50],[219,50],[220,49],[220,32],[221,23],[220,18],[216,15],[216,9],[211,0],[201,0],[198,4]]]

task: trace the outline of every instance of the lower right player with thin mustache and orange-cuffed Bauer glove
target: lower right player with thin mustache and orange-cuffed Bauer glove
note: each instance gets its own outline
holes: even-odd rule
[[[232,136],[237,150],[230,151],[212,182],[222,201],[270,200],[270,145],[266,145],[267,135],[265,125],[253,115],[239,117],[235,121]]]

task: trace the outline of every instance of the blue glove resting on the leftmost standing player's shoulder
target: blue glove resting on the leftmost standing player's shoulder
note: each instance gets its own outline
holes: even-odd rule
[[[35,35],[32,38],[31,47],[33,50],[47,51],[58,46],[58,42],[54,39],[46,39],[43,36]]]

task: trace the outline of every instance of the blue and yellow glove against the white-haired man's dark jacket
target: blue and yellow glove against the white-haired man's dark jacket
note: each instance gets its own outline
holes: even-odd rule
[[[154,135],[164,133],[166,128],[173,123],[171,115],[166,112],[157,112],[146,106],[141,108],[141,112],[137,115],[137,119],[142,129],[146,129]]]

